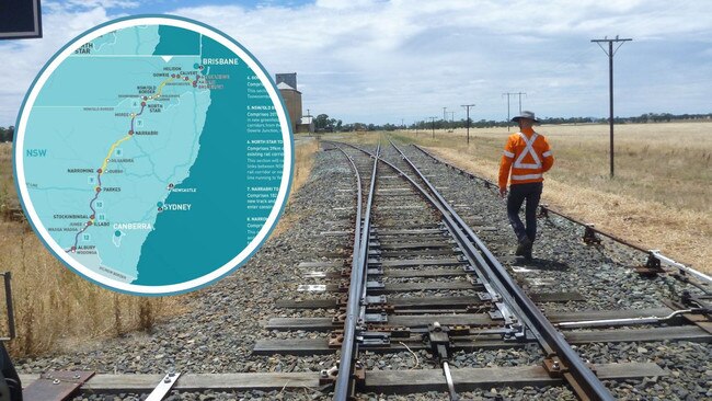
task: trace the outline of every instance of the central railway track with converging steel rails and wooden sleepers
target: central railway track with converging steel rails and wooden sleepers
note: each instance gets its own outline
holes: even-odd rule
[[[659,308],[544,317],[427,180],[427,170],[421,171],[393,144],[374,151],[347,144],[333,146],[349,160],[357,181],[369,177],[361,184],[361,188],[370,188],[368,195],[360,192],[357,196],[356,204],[360,207],[356,210],[351,268],[309,273],[312,277],[332,277],[338,284],[302,289],[334,291],[334,298],[284,301],[280,306],[328,308],[335,313],[331,318],[275,319],[268,323],[268,329],[325,330],[330,332],[329,339],[259,342],[255,352],[318,353],[341,347],[341,362],[321,374],[322,383],[334,382],[336,400],[348,399],[359,391],[432,390],[447,391],[450,399],[458,399],[458,390],[494,383],[522,386],[561,381],[567,382],[579,399],[613,399],[599,377],[624,380],[656,377],[665,371],[655,364],[594,367],[585,364],[570,344],[624,341],[630,332],[578,332],[570,335],[567,342],[560,330],[670,324],[680,323],[681,319],[677,318],[681,316],[703,314],[704,306],[697,303],[670,305],[682,309],[670,309],[669,313]],[[550,293],[538,298],[544,302],[572,300],[566,293]],[[699,325],[671,328],[635,333],[639,336],[628,340],[689,339],[689,334],[709,337],[709,332]],[[450,359],[457,352],[476,353],[531,343],[540,347],[540,366],[455,371],[450,368]],[[411,353],[426,351],[432,368],[374,371],[360,359],[360,355],[399,353],[404,348]],[[535,351],[529,347],[529,352]],[[538,378],[526,377],[524,371],[538,375]]]

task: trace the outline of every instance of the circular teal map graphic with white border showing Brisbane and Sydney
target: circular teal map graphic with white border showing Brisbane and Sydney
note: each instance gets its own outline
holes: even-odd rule
[[[103,286],[183,293],[230,273],[277,221],[291,176],[285,107],[237,42],[194,21],[116,20],[41,71],[16,124],[25,213]]]

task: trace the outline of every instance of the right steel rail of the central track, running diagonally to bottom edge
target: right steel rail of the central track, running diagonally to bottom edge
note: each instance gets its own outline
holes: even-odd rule
[[[418,177],[428,186],[433,194],[438,197],[443,203],[444,207],[448,210],[452,219],[455,219],[458,226],[467,233],[470,240],[472,240],[478,251],[485,257],[486,264],[491,267],[491,272],[496,275],[499,282],[505,286],[506,291],[512,295],[521,311],[525,313],[527,320],[529,321],[530,329],[535,329],[542,340],[546,341],[544,350],[551,348],[554,351],[556,356],[562,359],[573,376],[575,383],[571,383],[574,389],[579,387],[586,397],[590,397],[597,400],[613,400],[610,391],[606,386],[596,377],[596,375],[586,366],[586,364],[581,359],[578,354],[571,347],[571,345],[564,340],[564,337],[556,331],[556,329],[551,324],[549,319],[543,316],[543,313],[537,308],[535,302],[525,294],[525,291],[519,287],[512,276],[507,273],[506,268],[497,261],[497,259],[490,252],[485,244],[480,240],[480,238],[470,229],[470,227],[460,218],[460,216],[455,211],[450,204],[436,191],[435,186],[421,173],[421,171],[413,164],[413,162],[395,146],[391,145],[398,150],[403,160],[413,169],[413,171],[418,175]],[[492,277],[491,277],[492,278]],[[544,344],[542,344],[544,345]],[[579,394],[582,397],[584,394]],[[583,398],[583,397],[582,397]]]

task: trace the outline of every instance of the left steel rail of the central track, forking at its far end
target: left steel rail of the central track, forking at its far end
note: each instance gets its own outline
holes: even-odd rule
[[[356,163],[351,156],[346,153],[341,147],[336,146],[351,162],[352,169],[356,174],[358,185],[358,198],[356,208],[356,227],[354,231],[354,251],[352,256],[352,272],[351,284],[348,286],[348,303],[346,305],[346,317],[344,320],[344,342],[341,347],[341,357],[338,359],[338,374],[334,385],[334,400],[346,401],[351,398],[354,390],[353,378],[354,367],[356,363],[355,356],[357,355],[358,344],[356,343],[356,335],[358,326],[361,322],[361,299],[365,294],[365,279],[366,279],[366,265],[368,254],[368,237],[370,233],[370,209],[374,202],[374,192],[376,188],[376,170],[378,165],[378,153],[380,146],[376,150],[374,157],[374,170],[371,172],[371,182],[368,193],[368,200],[365,215],[363,213],[363,188],[360,174],[356,168]],[[361,216],[364,221],[361,222]]]

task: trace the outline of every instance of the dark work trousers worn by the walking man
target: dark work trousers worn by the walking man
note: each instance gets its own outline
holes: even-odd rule
[[[517,236],[519,242],[521,242],[525,237],[528,237],[531,242],[537,238],[537,206],[539,206],[542,188],[543,183],[541,182],[509,185],[507,216],[509,217],[509,224],[512,224],[514,233]],[[521,219],[519,218],[519,209],[525,199],[527,200],[525,209],[527,228],[524,227]]]

